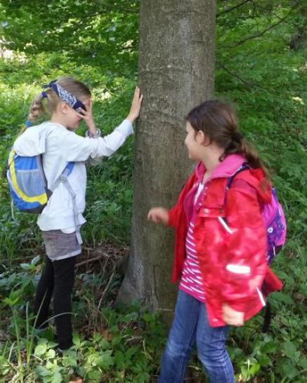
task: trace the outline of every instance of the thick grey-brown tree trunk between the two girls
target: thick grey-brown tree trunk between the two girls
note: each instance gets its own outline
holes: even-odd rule
[[[214,90],[214,0],[143,0],[138,85],[144,95],[136,128],[131,251],[117,302],[141,300],[166,314],[173,232],[148,222],[154,206],[170,208],[192,170],[184,116]]]

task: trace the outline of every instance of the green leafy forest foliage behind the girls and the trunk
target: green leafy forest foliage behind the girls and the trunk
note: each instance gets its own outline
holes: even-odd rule
[[[129,110],[137,81],[138,6],[138,1],[124,0],[60,0],[49,1],[44,7],[38,0],[1,1],[0,48],[12,51],[10,58],[0,58],[2,173],[6,168],[8,148],[25,121],[32,98],[41,90],[41,84],[51,79],[70,74],[91,87],[94,115],[103,133],[109,133],[122,121]],[[244,328],[233,330],[230,337],[230,354],[240,382],[252,382],[255,376],[259,379],[256,382],[306,382],[306,8],[306,4],[299,0],[218,1],[216,97],[235,103],[244,135],[254,143],[273,175],[289,230],[287,246],[273,264],[277,275],[285,282],[285,288],[270,298],[275,311],[271,331],[268,335],[261,333],[259,316]],[[83,130],[81,127],[79,133]],[[89,169],[88,222],[83,229],[87,246],[97,247],[104,241],[120,246],[129,243],[132,172],[133,138],[111,159],[103,161],[98,168]],[[11,307],[16,321],[21,323],[25,316],[25,300],[31,300],[36,283],[32,275],[37,274],[40,267],[34,263],[30,269],[20,269],[14,266],[14,259],[34,257],[43,252],[35,217],[16,213],[16,221],[12,219],[5,177],[1,177],[0,193],[1,280],[6,281],[0,283],[0,307],[4,313],[0,317],[0,335],[2,332],[6,334],[5,337],[0,336],[0,359],[4,362],[0,364],[6,366],[0,367],[0,377],[3,382],[11,381],[13,375],[8,375],[8,371],[12,371],[13,365],[13,371],[20,379],[16,382],[21,382],[23,375],[32,382],[30,379],[34,377],[30,372],[20,368],[22,363],[19,363],[18,352],[16,357],[12,356],[15,351],[9,354],[12,344],[15,344],[13,350],[18,350],[19,338],[12,327],[6,326],[5,319],[10,315]],[[12,275],[10,285],[6,278]],[[16,303],[11,295],[15,294],[12,289],[25,281],[28,281],[29,291],[21,289],[20,300]],[[19,311],[15,309],[18,307]],[[134,310],[135,314],[140,311]],[[112,315],[119,318],[117,315],[124,314]],[[152,326],[159,332],[157,317],[146,315],[147,321],[154,323]],[[119,322],[109,318],[105,323],[115,326],[113,330],[116,332],[116,328],[122,326],[116,327]],[[27,337],[20,326],[19,349],[22,349]],[[95,353],[98,353],[95,354],[97,358],[106,358],[99,360],[95,368],[98,372],[91,378],[86,377],[86,381],[98,382],[98,375],[101,377],[102,371],[107,373],[110,365],[118,371],[123,368],[121,358],[124,357],[118,356],[119,351],[125,354],[130,346],[125,344],[124,335],[121,336],[124,348],[117,350],[117,354],[116,347],[110,345],[100,349],[88,343],[84,344],[83,351],[76,347],[76,353],[81,353],[79,358],[86,360],[84,368],[86,363],[91,365],[93,360],[96,361],[91,356]],[[154,334],[152,336],[155,337]],[[8,342],[3,339],[8,339]],[[44,340],[39,342],[44,352],[39,349],[37,356],[45,357],[52,344],[46,345]],[[141,344],[136,347],[139,349]],[[107,350],[110,351],[109,356],[105,356]],[[143,359],[140,362],[147,363],[143,368],[147,375],[137,377],[138,371],[131,372],[127,367],[126,377],[110,375],[106,381],[129,382],[131,379],[131,382],[148,382],[150,374],[155,375],[157,371],[157,355],[161,351],[159,337],[146,351],[146,362]],[[81,375],[82,371],[74,368],[76,355],[71,356],[68,363],[49,352],[46,358],[42,358],[44,362],[35,358],[36,362],[32,361],[30,367],[37,366],[35,373],[39,377],[37,379],[41,379],[39,381],[51,382],[48,374],[44,375],[46,370],[38,366],[53,372],[58,366],[60,369],[56,370],[56,376],[65,381],[70,370]],[[141,356],[133,363],[137,365],[138,361],[141,361]],[[200,382],[202,378],[197,372],[197,363],[193,361],[192,367],[194,375],[198,376],[197,382]]]

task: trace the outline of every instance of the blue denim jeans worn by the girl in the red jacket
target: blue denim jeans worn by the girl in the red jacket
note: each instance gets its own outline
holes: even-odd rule
[[[228,326],[210,327],[205,305],[179,290],[158,383],[183,382],[195,342],[209,382],[235,383],[233,365],[225,348],[227,332]]]

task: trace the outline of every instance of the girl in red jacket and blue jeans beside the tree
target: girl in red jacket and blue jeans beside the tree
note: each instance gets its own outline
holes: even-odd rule
[[[233,109],[207,101],[186,116],[185,145],[198,165],[171,210],[152,208],[148,219],[176,232],[172,281],[179,293],[158,383],[183,382],[190,351],[211,383],[234,383],[225,348],[228,325],[240,326],[266,302],[280,282],[266,263],[266,228],[261,203],[271,199],[259,156],[237,130]],[[227,192],[232,175],[238,173]]]

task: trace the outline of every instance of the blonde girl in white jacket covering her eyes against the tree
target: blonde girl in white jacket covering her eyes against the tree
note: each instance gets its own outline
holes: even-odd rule
[[[133,134],[132,123],[138,118],[143,95],[136,88],[131,110],[110,135],[100,137],[92,114],[91,91],[84,83],[63,77],[51,81],[30,107],[22,134],[13,148],[19,156],[42,155],[44,175],[52,194],[37,224],[41,229],[46,258],[34,300],[35,327],[48,325],[48,308],[53,297],[53,316],[60,351],[72,346],[71,295],[74,265],[81,253],[79,229],[84,224],[86,163],[98,163],[111,156]],[[32,126],[44,114],[50,121]],[[81,121],[86,137],[74,133]],[[65,172],[65,182],[63,182]]]

